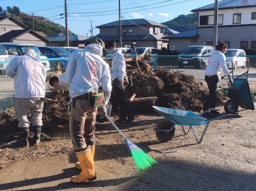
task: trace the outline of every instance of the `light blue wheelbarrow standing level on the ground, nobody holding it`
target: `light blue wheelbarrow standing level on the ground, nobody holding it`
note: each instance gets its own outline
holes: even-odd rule
[[[218,109],[209,109],[207,111],[201,112],[200,114],[195,114],[191,111],[182,111],[178,109],[164,108],[159,106],[153,106],[153,108],[158,114],[160,114],[162,117],[165,117],[168,120],[163,123],[160,123],[157,128],[154,128],[154,130],[156,131],[156,137],[162,142],[168,142],[169,140],[171,140],[175,134],[175,125],[179,125],[182,127],[184,135],[187,135],[191,129],[197,143],[201,143],[211,121],[219,120],[221,118],[233,115],[225,114],[219,117],[215,117],[214,119],[207,120],[206,118],[200,115],[208,111]],[[198,140],[197,135],[194,132],[193,126],[200,125],[205,125],[205,127],[203,129],[203,134],[201,135],[200,140]],[[185,130],[184,126],[189,126],[187,131]]]

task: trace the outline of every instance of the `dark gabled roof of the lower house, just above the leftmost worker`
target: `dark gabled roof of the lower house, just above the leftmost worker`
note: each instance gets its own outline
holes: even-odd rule
[[[6,42],[6,41],[12,41],[15,40],[16,38],[20,37],[23,34],[29,33],[31,32],[32,34],[34,34],[36,37],[38,37],[39,39],[41,39],[42,41],[48,43],[50,42],[49,40],[47,40],[46,38],[42,37],[41,35],[37,34],[35,31],[33,31],[32,29],[24,29],[24,30],[12,30],[9,32],[6,32],[5,34],[0,36],[0,41],[2,42]]]

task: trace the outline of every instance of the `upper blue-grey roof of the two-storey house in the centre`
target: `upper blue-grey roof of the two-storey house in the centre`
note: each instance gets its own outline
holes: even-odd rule
[[[138,26],[138,25],[150,25],[150,26],[161,26],[161,27],[167,27],[165,25],[153,22],[151,20],[147,19],[130,19],[130,20],[122,20],[122,26]],[[103,28],[103,27],[113,27],[113,26],[119,26],[119,20],[114,21],[112,23],[106,23],[100,26],[96,26],[97,28]]]

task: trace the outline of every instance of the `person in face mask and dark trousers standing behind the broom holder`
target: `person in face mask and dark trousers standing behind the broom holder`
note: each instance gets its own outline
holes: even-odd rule
[[[114,79],[113,89],[115,93],[115,99],[119,106],[120,118],[116,122],[124,122],[125,124],[130,124],[135,119],[132,114],[132,107],[127,103],[127,95],[125,93],[124,77],[126,77],[126,63],[124,56],[116,48],[116,43],[114,40],[109,40],[106,42],[105,48],[109,50],[112,54],[112,64],[111,64],[111,77]],[[127,119],[128,117],[128,119]]]

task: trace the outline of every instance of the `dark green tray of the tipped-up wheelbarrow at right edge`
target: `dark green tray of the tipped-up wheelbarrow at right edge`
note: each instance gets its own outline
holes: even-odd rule
[[[235,79],[227,90],[228,97],[235,99],[241,108],[254,110],[253,98],[247,79]]]

